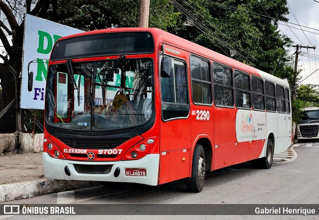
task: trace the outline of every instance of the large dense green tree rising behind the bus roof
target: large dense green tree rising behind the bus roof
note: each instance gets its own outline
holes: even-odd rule
[[[294,75],[293,59],[286,49],[292,41],[278,30],[279,20],[288,21],[287,0],[178,2],[183,7],[181,20],[192,19],[194,26],[177,25],[170,31],[227,56],[235,51],[234,59],[275,76]]]

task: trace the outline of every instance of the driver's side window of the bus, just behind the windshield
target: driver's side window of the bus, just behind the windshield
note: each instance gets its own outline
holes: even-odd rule
[[[187,117],[189,113],[186,65],[174,59],[172,65],[170,76],[160,79],[163,120]]]

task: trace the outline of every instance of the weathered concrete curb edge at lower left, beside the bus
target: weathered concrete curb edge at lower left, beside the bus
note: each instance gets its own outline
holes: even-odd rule
[[[2,184],[0,185],[0,203],[100,185],[99,182],[93,181],[66,181],[45,178],[39,181]]]

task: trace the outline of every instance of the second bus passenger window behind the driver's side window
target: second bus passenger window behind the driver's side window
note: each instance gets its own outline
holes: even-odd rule
[[[233,77],[231,69],[214,63],[213,78],[215,104],[233,106]]]

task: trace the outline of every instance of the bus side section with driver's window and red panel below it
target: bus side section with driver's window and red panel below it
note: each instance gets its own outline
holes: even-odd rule
[[[184,62],[165,57],[171,72],[160,78],[160,184],[189,175],[191,121],[187,68]]]

